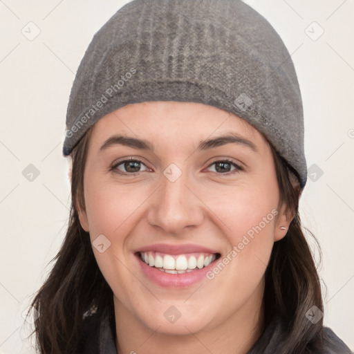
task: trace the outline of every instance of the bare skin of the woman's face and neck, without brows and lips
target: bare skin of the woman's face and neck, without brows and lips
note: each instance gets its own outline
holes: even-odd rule
[[[234,132],[254,143],[196,151],[200,140]],[[154,150],[114,145],[115,133],[148,140]],[[142,160],[129,176],[110,171],[127,158]],[[232,160],[243,170],[216,161]],[[163,171],[182,171],[171,183]],[[129,168],[129,166],[128,166]],[[129,174],[124,163],[115,171]],[[133,170],[134,171],[134,170]],[[231,172],[229,176],[225,173]],[[91,241],[104,234],[111,245],[97,264],[114,294],[118,354],[247,353],[263,330],[264,272],[274,241],[286,235],[292,218],[279,205],[270,147],[245,120],[192,102],[129,104],[95,123],[84,170],[85,209],[80,223]],[[214,279],[187,288],[164,288],[140,270],[133,250],[152,243],[195,243],[230,254],[243,236],[272,209],[266,223]],[[293,217],[293,216],[292,216]],[[216,261],[217,262],[217,261]],[[171,324],[169,306],[181,313]]]

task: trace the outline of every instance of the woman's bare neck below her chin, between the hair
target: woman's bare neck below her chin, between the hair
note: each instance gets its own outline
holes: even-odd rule
[[[261,288],[263,290],[263,286]],[[218,326],[171,335],[162,333],[158,326],[145,326],[114,297],[118,354],[246,354],[264,329],[262,300],[263,291],[256,291],[241,309],[230,313]]]

